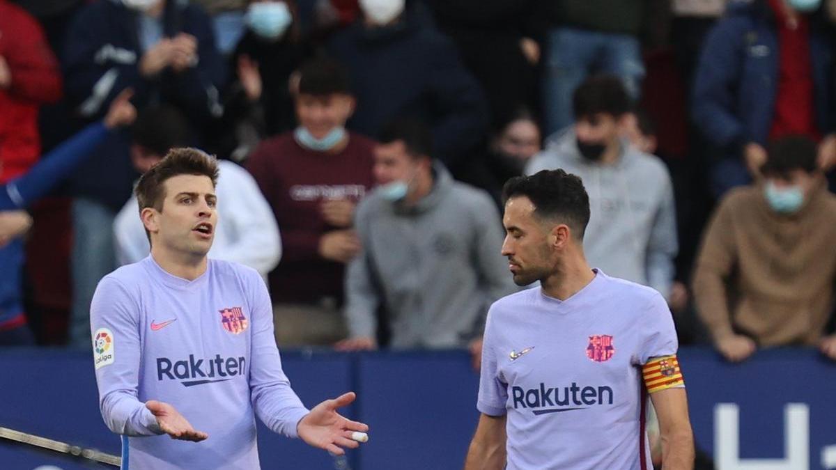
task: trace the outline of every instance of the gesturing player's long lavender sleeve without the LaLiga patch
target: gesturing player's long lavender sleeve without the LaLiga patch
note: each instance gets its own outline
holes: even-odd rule
[[[296,426],[308,409],[290,387],[282,370],[273,336],[273,307],[262,278],[252,270],[247,277],[252,302],[252,351],[250,353],[250,394],[252,407],[273,432],[298,437]]]

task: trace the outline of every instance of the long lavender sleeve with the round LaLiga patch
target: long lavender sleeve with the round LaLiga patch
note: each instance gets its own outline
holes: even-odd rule
[[[162,434],[138,398],[141,361],[139,307],[115,278],[99,282],[90,305],[90,330],[99,408],[110,431],[125,436]]]

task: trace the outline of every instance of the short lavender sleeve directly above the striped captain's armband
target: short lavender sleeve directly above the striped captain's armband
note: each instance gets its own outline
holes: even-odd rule
[[[639,365],[646,365],[651,358],[675,355],[679,349],[673,314],[659,293],[655,293],[645,307],[640,331]]]

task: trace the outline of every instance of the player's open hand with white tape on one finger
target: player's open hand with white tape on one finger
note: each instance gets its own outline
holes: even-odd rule
[[[350,421],[337,412],[338,408],[349,405],[354,398],[353,391],[349,391],[334,400],[326,400],[299,421],[296,430],[299,438],[308,445],[325,449],[334,455],[343,455],[344,447],[357,448],[357,437],[354,432],[367,432],[369,427],[362,422]]]

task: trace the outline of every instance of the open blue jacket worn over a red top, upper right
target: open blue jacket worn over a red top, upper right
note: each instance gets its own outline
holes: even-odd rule
[[[810,18],[813,105],[818,130],[833,130],[832,56],[823,18]],[[730,3],[703,44],[694,79],[692,117],[715,146],[737,152],[767,143],[778,86],[778,36],[766,0]]]

